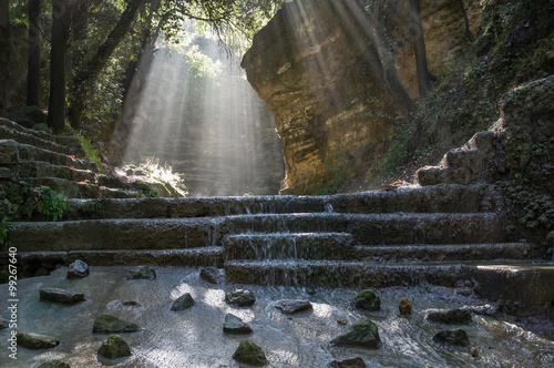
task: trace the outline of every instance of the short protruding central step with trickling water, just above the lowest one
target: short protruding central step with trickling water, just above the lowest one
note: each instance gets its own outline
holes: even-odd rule
[[[226,259],[351,259],[348,233],[234,234],[223,238]]]

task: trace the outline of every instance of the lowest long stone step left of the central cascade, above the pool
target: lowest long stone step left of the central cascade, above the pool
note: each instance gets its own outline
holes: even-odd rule
[[[204,247],[191,249],[117,249],[117,251],[68,251],[68,252],[20,252],[22,273],[47,265],[70,264],[76,259],[90,266],[181,266],[223,267],[224,248]]]

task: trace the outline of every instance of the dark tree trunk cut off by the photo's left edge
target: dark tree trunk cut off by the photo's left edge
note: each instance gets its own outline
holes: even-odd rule
[[[0,0],[0,117],[8,109],[8,78],[10,75],[10,1]]]

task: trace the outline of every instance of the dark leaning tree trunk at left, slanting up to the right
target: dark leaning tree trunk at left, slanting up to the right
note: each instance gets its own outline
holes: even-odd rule
[[[121,14],[121,18],[114,29],[107,35],[107,39],[100,45],[95,55],[91,59],[85,69],[79,71],[73,79],[73,94],[71,96],[71,105],[69,110],[69,119],[73,129],[81,127],[81,119],[85,108],[86,94],[92,82],[98,78],[115,48],[127,33],[137,10],[144,4],[144,2],[145,0],[130,0],[127,2],[127,7]]]

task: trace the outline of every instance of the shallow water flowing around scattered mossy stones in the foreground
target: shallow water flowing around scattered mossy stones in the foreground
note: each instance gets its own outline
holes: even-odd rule
[[[157,267],[155,280],[126,280],[131,267],[93,267],[85,279],[68,279],[65,268],[50,276],[19,282],[18,331],[55,336],[61,344],[54,349],[29,350],[20,347],[18,360],[8,357],[10,329],[0,331],[1,367],[35,367],[42,361],[60,359],[71,367],[240,367],[233,358],[242,339],[258,344],[268,367],[327,367],[335,359],[361,357],[368,367],[552,367],[554,366],[554,327],[546,320],[473,316],[468,331],[471,346],[480,357],[471,357],[468,348],[447,348],[432,341],[434,333],[447,326],[431,325],[428,311],[485,301],[464,296],[462,289],[445,287],[410,287],[378,289],[381,310],[369,316],[379,326],[378,349],[335,347],[329,341],[342,334],[362,313],[349,307],[355,289],[309,289],[290,287],[245,286],[256,295],[256,304],[237,308],[224,300],[225,292],[237,285],[212,285],[199,278],[197,268]],[[39,300],[39,289],[65,288],[85,294],[86,300],[63,306]],[[240,286],[238,286],[240,287]],[[8,286],[0,293],[8,295]],[[173,300],[191,293],[196,304],[188,310],[170,310]],[[401,317],[401,296],[413,303],[410,317]],[[309,299],[314,309],[294,316],[275,308],[279,299]],[[126,305],[125,301],[136,301]],[[3,318],[9,316],[6,299],[1,301]],[[225,315],[232,313],[248,323],[254,333],[246,337],[223,333]],[[92,333],[94,317],[113,314],[136,323],[141,330],[121,334],[132,356],[105,360],[98,350],[106,335]],[[9,319],[9,318],[8,318]],[[346,320],[341,325],[338,320]]]

